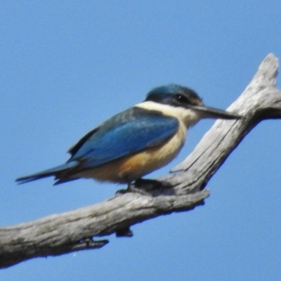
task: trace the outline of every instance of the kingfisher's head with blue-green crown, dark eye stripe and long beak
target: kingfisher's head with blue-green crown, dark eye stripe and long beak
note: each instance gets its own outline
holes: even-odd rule
[[[179,107],[190,112],[189,118],[193,118],[194,123],[202,118],[214,119],[240,119],[240,115],[235,115],[225,110],[218,110],[214,107],[207,107],[202,103],[202,98],[192,89],[177,84],[159,86],[152,89],[145,98],[145,101],[152,101],[171,107]],[[193,123],[193,122],[191,122]]]

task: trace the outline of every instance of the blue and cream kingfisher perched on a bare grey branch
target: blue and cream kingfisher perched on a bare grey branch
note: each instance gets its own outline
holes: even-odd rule
[[[19,183],[55,177],[54,185],[79,178],[131,183],[173,160],[188,129],[200,119],[240,119],[240,115],[207,107],[185,86],[152,89],[142,103],[97,126],[68,150],[65,164],[16,179]]]

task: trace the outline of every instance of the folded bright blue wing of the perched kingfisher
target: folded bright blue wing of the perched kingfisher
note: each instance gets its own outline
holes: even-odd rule
[[[177,129],[176,118],[133,107],[115,115],[81,138],[70,149],[72,157],[68,162],[83,162],[82,169],[100,166],[145,148],[161,145]]]

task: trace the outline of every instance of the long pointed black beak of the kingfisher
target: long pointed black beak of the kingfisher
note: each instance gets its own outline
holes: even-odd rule
[[[218,110],[214,107],[205,105],[192,105],[192,110],[200,113],[202,118],[215,118],[215,119],[240,119],[241,115],[227,112],[225,110]]]

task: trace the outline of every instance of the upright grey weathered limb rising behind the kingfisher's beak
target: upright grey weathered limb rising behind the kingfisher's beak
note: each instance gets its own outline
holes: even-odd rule
[[[165,177],[171,184],[178,183],[178,190],[196,192],[223,164],[228,155],[239,145],[244,136],[265,119],[281,118],[281,92],[275,88],[278,60],[269,54],[242,95],[228,107],[244,119],[226,121],[218,119],[204,135],[195,150]]]

